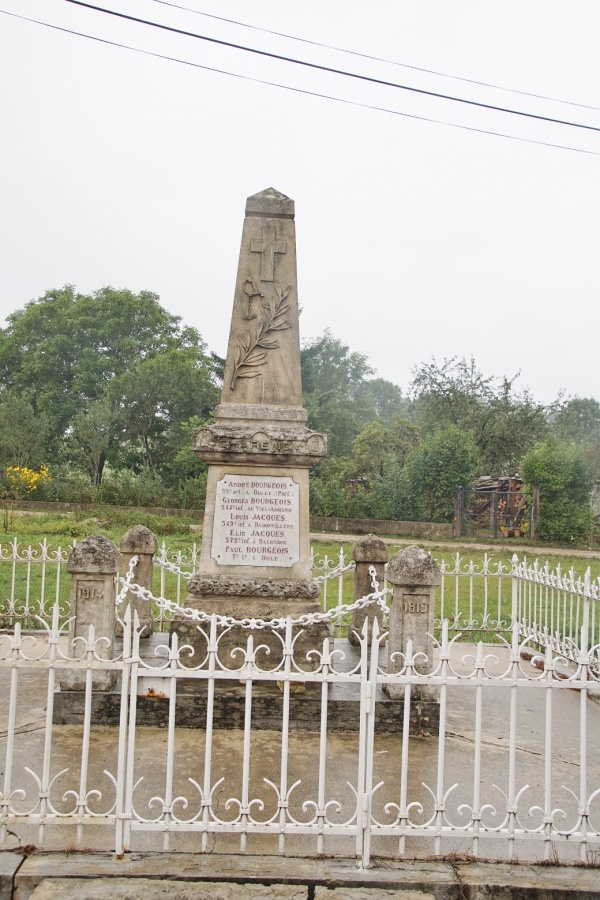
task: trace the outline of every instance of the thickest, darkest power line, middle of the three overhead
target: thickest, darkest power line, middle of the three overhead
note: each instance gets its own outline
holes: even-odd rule
[[[467,100],[464,97],[454,97],[450,94],[441,94],[437,91],[426,91],[423,88],[411,87],[410,85],[406,84],[398,84],[394,81],[385,81],[381,78],[372,78],[370,75],[359,75],[357,72],[348,72],[344,69],[335,69],[330,66],[323,66],[319,65],[318,63],[307,62],[303,59],[294,59],[293,57],[282,56],[278,53],[270,53],[267,50],[258,50],[255,47],[246,47],[243,44],[234,44],[231,41],[223,41],[219,38],[208,37],[208,35],[197,34],[194,31],[185,31],[182,28],[174,28],[171,25],[162,25],[159,22],[152,22],[149,19],[139,19],[137,16],[130,16],[127,13],[117,12],[114,9],[106,9],[103,6],[95,6],[93,3],[85,3],[84,0],[65,0],[65,2],[72,3],[75,6],[84,7],[85,9],[91,9],[94,12],[105,13],[106,15],[114,16],[118,19],[125,19],[129,22],[136,22],[139,25],[149,25],[151,28],[159,28],[162,31],[169,31],[172,34],[180,34],[184,37],[191,37],[200,41],[207,41],[210,44],[218,44],[221,47],[229,47],[233,50],[243,50],[246,53],[254,53],[257,56],[264,56],[268,59],[277,59],[280,62],[292,63],[294,65],[304,66],[308,69],[316,69],[320,72],[328,72],[329,74],[333,75],[343,75],[347,78],[355,78],[359,81],[367,81],[371,84],[378,84],[383,87],[391,87],[402,91],[410,91],[413,94],[422,94],[426,97],[435,97],[437,100],[450,100],[454,103],[463,103],[466,106],[476,106],[480,109],[489,109],[493,112],[506,113],[512,116],[521,116],[526,119],[535,119],[539,122],[550,122],[553,125],[567,125],[570,128],[582,128],[585,131],[600,132],[600,127],[597,127],[595,125],[584,125],[581,122],[570,122],[566,119],[554,119],[549,116],[540,116],[536,113],[523,112],[523,110],[510,109],[505,106],[495,106],[491,103],[481,103],[478,100]]]

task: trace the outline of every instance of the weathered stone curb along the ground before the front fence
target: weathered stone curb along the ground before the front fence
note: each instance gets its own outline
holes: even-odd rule
[[[0,866],[0,900],[600,900],[600,870],[583,866],[160,852],[4,853]]]

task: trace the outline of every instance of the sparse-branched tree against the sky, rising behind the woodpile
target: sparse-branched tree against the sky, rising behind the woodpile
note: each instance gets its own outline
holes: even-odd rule
[[[425,435],[450,425],[470,432],[483,471],[514,471],[548,432],[547,410],[527,391],[515,391],[516,377],[495,383],[472,358],[423,363],[413,369],[415,421]]]

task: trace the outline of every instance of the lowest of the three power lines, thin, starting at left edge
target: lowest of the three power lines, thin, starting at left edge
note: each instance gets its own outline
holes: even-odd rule
[[[432,125],[444,125],[447,128],[457,128],[460,131],[472,131],[475,134],[487,134],[492,137],[505,138],[506,140],[509,140],[509,141],[519,141],[520,143],[524,143],[524,144],[535,144],[539,147],[551,147],[555,150],[567,150],[571,153],[584,153],[587,156],[600,156],[600,152],[597,152],[595,150],[584,150],[580,147],[570,147],[565,144],[554,144],[554,143],[551,143],[550,141],[536,141],[533,138],[518,137],[517,135],[506,134],[501,131],[490,131],[489,129],[486,129],[486,128],[475,128],[471,125],[459,125],[456,122],[445,122],[445,121],[443,121],[443,119],[434,119],[434,118],[431,118],[428,116],[418,116],[413,113],[400,112],[399,110],[389,109],[389,108],[383,107],[383,106],[374,106],[373,104],[370,104],[370,103],[361,103],[357,100],[346,100],[343,97],[335,97],[331,94],[322,94],[322,93],[319,93],[318,91],[309,91],[305,88],[291,87],[290,85],[280,84],[279,82],[276,82],[276,81],[268,81],[263,78],[254,78],[250,75],[240,75],[237,72],[230,72],[227,69],[218,69],[214,66],[205,66],[205,65],[202,65],[201,63],[191,62],[190,60],[187,60],[187,59],[179,59],[176,56],[167,56],[164,53],[156,53],[152,50],[142,50],[140,47],[132,47],[129,44],[123,44],[118,41],[111,41],[111,40],[108,40],[107,38],[101,38],[101,37],[97,37],[96,35],[86,34],[85,32],[82,32],[82,31],[75,31],[74,29],[65,28],[61,25],[53,25],[50,22],[43,22],[40,19],[33,19],[33,18],[30,18],[29,16],[22,16],[22,15],[19,15],[18,13],[9,12],[8,10],[5,10],[5,9],[0,9],[0,13],[2,13],[5,16],[11,16],[14,19],[22,19],[25,22],[32,22],[35,25],[42,25],[45,28],[51,28],[53,31],[60,31],[64,34],[72,34],[72,35],[75,35],[76,37],[86,38],[87,40],[95,41],[96,43],[99,43],[99,44],[106,44],[107,46],[110,46],[110,47],[118,47],[122,50],[131,50],[134,53],[140,53],[143,56],[152,56],[152,57],[155,57],[156,59],[163,59],[163,60],[167,60],[168,62],[180,63],[181,65],[190,66],[194,69],[202,69],[206,72],[215,72],[219,75],[229,75],[232,78],[238,78],[242,81],[250,81],[255,84],[264,84],[264,85],[267,85],[268,87],[275,87],[275,88],[280,88],[281,90],[293,91],[295,94],[304,94],[309,97],[319,97],[323,100],[331,100],[336,103],[343,103],[346,106],[357,106],[361,109],[371,109],[371,110],[374,110],[375,112],[388,113],[389,115],[393,115],[393,116],[402,116],[403,118],[414,119],[418,122],[428,122]]]

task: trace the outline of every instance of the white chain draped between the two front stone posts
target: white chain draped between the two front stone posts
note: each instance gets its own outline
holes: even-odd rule
[[[129,563],[129,570],[125,578],[120,577],[118,579],[118,582],[122,585],[122,589],[119,591],[117,597],[118,603],[122,603],[126,594],[128,592],[131,592],[141,600],[150,600],[151,602],[156,603],[160,609],[166,609],[170,612],[180,613],[186,619],[195,619],[199,622],[210,622],[214,615],[216,616],[217,624],[223,628],[232,628],[235,625],[241,625],[244,628],[252,629],[283,628],[288,621],[288,619],[285,617],[274,619],[235,619],[233,616],[220,616],[218,615],[218,613],[213,613],[211,615],[199,609],[191,609],[190,607],[179,606],[173,600],[167,600],[166,597],[155,597],[152,591],[148,590],[147,588],[143,588],[139,584],[135,584],[131,581],[130,576],[133,575],[133,568],[136,562],[137,558],[133,557],[131,562]],[[363,609],[364,607],[371,606],[372,604],[376,604],[384,613],[388,613],[389,607],[383,598],[390,594],[391,591],[389,590],[389,588],[379,590],[377,573],[374,566],[369,566],[369,575],[371,576],[371,586],[373,588],[372,593],[367,594],[365,597],[361,597],[359,600],[355,600],[354,603],[343,603],[340,606],[336,606],[335,609],[327,610],[327,612],[306,613],[303,616],[298,616],[298,618],[290,620],[291,624],[314,625],[319,622],[329,622],[339,618],[342,615],[345,615],[346,613],[352,612],[355,609]]]

